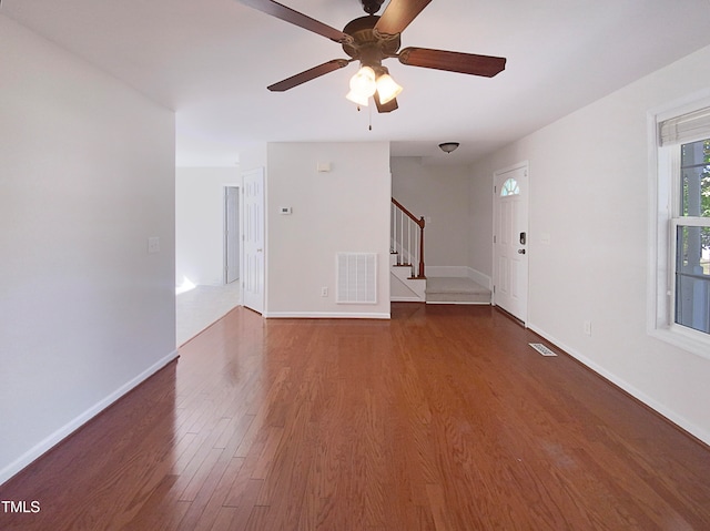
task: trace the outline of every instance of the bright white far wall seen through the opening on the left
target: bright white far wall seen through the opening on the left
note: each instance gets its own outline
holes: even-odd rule
[[[239,167],[175,172],[175,280],[224,282],[224,187],[240,185]]]

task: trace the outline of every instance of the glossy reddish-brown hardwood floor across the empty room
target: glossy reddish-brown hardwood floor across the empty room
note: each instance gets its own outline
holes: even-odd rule
[[[0,487],[41,508],[0,529],[710,529],[710,449],[530,341],[489,306],[237,308]]]

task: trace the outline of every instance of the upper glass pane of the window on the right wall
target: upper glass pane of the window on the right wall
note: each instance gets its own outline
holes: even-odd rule
[[[710,217],[710,139],[681,146],[683,216]]]

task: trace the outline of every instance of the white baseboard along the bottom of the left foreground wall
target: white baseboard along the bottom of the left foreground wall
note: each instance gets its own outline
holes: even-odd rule
[[[34,445],[32,448],[30,448],[28,451],[26,451],[23,455],[17,458],[14,461],[12,461],[10,464],[8,464],[2,470],[0,470],[0,484],[4,483],[14,474],[20,472],[23,468],[26,468],[37,458],[39,458],[40,456],[45,453],[48,450],[57,446],[59,442],[64,440],[67,437],[69,437],[71,433],[73,433],[83,425],[85,425],[89,420],[91,420],[93,417],[95,417],[101,411],[106,409],[109,406],[111,406],[113,402],[115,402],[119,398],[124,396],[131,389],[136,387],[139,384],[142,384],[148,378],[153,376],[155,372],[158,372],[160,369],[165,367],[175,358],[178,358],[178,350],[173,350],[168,356],[161,358],[151,367],[149,367],[143,372],[138,375],[135,378],[125,382],[124,385],[119,387],[115,391],[113,391],[111,395],[98,401],[92,407],[87,409],[83,413],[79,415],[73,420],[71,420],[70,422],[65,423],[64,426],[59,428],[57,431],[51,433],[49,437],[44,438],[43,440]]]

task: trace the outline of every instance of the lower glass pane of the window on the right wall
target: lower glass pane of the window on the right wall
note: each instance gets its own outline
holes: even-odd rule
[[[710,227],[679,226],[676,323],[710,334]]]

